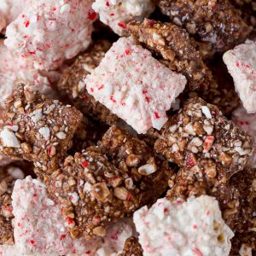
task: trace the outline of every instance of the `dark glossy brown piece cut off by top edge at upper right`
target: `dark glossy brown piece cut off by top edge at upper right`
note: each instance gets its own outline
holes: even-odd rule
[[[160,0],[164,15],[183,26],[195,38],[212,44],[215,52],[223,53],[243,42],[251,29],[228,0]]]

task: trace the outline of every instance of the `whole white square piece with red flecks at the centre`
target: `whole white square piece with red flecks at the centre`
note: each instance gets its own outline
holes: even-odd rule
[[[138,133],[166,123],[186,79],[163,66],[132,38],[119,38],[84,79],[88,92]]]

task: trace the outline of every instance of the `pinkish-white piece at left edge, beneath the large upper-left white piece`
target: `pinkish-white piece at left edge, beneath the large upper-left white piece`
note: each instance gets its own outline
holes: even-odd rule
[[[0,40],[0,106],[11,95],[15,84],[21,82],[34,84],[45,95],[53,94],[49,79],[33,67],[32,61],[15,54]]]

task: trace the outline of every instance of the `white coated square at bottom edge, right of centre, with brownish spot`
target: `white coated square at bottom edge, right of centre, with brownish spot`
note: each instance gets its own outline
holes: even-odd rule
[[[218,201],[208,195],[187,202],[159,199],[133,217],[143,255],[229,255],[234,236],[224,224]]]

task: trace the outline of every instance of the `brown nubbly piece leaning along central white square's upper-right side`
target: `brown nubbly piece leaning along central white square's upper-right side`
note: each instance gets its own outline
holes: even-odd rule
[[[146,19],[143,22],[131,21],[128,29],[139,42],[160,55],[167,67],[182,73],[190,89],[208,87],[212,73],[184,29],[172,23]]]

